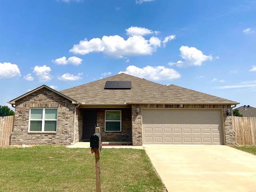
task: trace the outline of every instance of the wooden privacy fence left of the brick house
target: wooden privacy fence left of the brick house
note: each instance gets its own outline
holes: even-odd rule
[[[0,146],[10,145],[14,115],[0,117]]]

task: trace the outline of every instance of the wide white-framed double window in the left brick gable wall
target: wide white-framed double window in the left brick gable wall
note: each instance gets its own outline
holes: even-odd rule
[[[31,108],[29,132],[56,132],[56,108]]]

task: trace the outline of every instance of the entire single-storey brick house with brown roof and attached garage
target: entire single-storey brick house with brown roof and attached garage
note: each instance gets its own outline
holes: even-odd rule
[[[239,103],[124,73],[60,92],[42,85],[9,104],[12,145],[88,141],[96,126],[103,142],[134,146],[236,144],[227,110]]]

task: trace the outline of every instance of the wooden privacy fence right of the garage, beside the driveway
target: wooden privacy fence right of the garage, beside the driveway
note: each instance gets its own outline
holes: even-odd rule
[[[236,142],[240,145],[256,145],[256,117],[233,116]]]

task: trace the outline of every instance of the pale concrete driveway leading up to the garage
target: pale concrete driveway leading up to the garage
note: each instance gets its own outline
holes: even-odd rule
[[[228,146],[143,145],[168,192],[256,192],[256,156]]]

